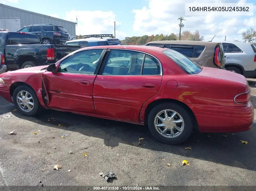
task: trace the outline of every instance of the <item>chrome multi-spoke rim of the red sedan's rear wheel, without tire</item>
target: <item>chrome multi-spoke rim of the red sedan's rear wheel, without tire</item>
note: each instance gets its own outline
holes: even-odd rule
[[[174,110],[162,110],[155,116],[155,129],[167,138],[175,138],[181,135],[184,130],[184,120]]]

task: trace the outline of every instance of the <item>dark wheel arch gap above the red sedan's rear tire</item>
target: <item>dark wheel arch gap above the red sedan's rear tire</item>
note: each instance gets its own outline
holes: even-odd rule
[[[178,100],[174,100],[174,99],[158,99],[158,100],[154,100],[151,103],[149,103],[145,109],[145,113],[144,113],[144,123],[147,124],[148,120],[148,114],[149,112],[158,104],[161,103],[177,103],[178,105],[180,105],[181,107],[184,107],[189,115],[191,116],[192,120],[193,120],[193,128],[194,129],[198,129],[198,123],[197,123],[197,119],[193,113],[193,111],[190,109],[190,107],[188,107],[188,105],[186,105],[185,103],[178,101]]]

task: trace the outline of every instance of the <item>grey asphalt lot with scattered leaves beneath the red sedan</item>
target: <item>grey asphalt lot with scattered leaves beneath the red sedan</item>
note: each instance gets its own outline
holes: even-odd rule
[[[256,80],[248,82],[255,107]],[[194,131],[185,143],[166,145],[146,126],[52,110],[26,117],[13,109],[0,97],[0,185],[256,185],[256,121],[247,132]],[[117,178],[99,176],[108,171]]]

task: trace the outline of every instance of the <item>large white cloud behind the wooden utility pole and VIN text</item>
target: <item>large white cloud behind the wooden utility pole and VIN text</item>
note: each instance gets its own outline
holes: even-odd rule
[[[226,0],[208,0],[207,3],[227,2]],[[228,1],[231,3],[230,1]],[[186,21],[182,21],[185,25],[184,30],[199,30],[204,36],[204,40],[224,40],[225,36],[230,40],[241,40],[241,31],[246,27],[254,27],[256,25],[256,17],[248,16],[185,16],[185,3],[194,3],[200,5],[202,0],[149,0],[148,7],[133,10],[135,13],[135,21],[133,24],[134,31],[138,31],[140,35],[151,34],[170,34],[179,32],[180,16]],[[246,0],[233,0],[232,3],[242,5]],[[255,8],[255,6],[254,6]]]

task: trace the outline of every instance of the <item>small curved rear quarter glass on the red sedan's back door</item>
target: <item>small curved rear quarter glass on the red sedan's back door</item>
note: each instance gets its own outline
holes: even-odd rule
[[[160,64],[157,59],[146,55],[142,75],[160,75]]]

